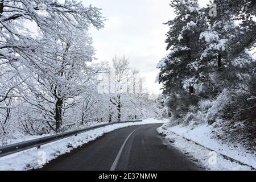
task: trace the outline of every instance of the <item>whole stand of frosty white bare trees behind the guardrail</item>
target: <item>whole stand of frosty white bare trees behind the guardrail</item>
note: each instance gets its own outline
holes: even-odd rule
[[[76,1],[0,1],[0,138],[160,117],[127,56],[96,60],[101,9]]]

